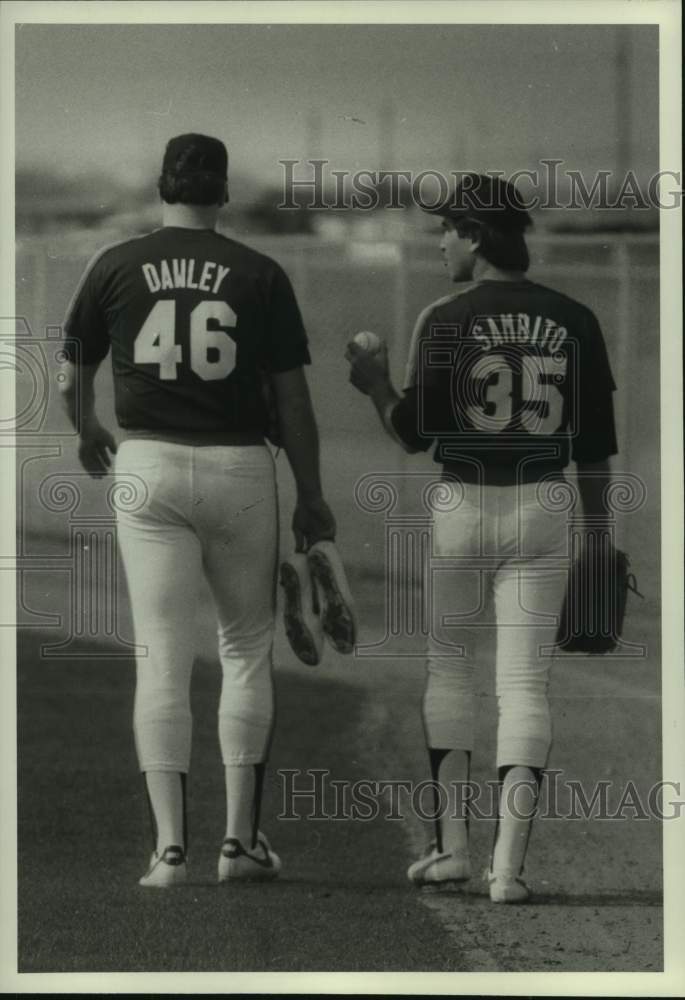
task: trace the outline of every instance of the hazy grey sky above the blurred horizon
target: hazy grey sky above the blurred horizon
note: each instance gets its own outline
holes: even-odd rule
[[[141,184],[170,136],[202,131],[259,184],[314,155],[343,170],[509,173],[554,157],[591,172],[616,167],[623,128],[624,167],[645,176],[657,45],[651,26],[27,24],[17,164]]]

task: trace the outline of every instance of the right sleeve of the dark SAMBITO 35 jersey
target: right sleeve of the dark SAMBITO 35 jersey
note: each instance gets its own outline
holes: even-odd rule
[[[601,462],[618,451],[613,393],[616,389],[609,355],[597,318],[588,313],[586,336],[576,367],[576,412],[571,457],[576,462]]]

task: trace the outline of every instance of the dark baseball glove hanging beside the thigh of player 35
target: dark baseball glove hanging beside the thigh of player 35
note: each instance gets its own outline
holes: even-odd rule
[[[639,593],[625,552],[608,535],[588,539],[569,571],[557,645],[567,653],[601,655],[616,648],[628,591]]]

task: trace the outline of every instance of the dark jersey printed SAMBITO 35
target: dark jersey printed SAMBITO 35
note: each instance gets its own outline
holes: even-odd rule
[[[392,422],[463,478],[537,479],[616,453],[615,388],[588,308],[531,281],[481,281],[419,317]]]

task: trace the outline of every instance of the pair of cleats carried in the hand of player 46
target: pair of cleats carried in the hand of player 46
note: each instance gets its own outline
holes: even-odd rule
[[[357,641],[354,601],[345,568],[333,542],[316,542],[281,563],[285,595],[285,632],[295,655],[318,666],[324,637],[339,653],[349,654]]]

